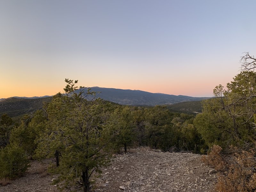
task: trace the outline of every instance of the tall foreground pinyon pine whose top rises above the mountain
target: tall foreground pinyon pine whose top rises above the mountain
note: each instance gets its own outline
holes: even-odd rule
[[[60,174],[58,181],[65,186],[81,182],[84,191],[90,190],[90,176],[107,162],[111,134],[108,126],[108,104],[102,100],[86,100],[96,93],[76,93],[77,86],[66,79],[66,96],[56,96],[47,108],[45,134],[38,141],[36,154],[60,157],[53,171]],[[78,182],[79,181],[79,182]]]

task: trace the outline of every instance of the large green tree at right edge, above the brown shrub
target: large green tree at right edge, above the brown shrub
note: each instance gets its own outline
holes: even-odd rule
[[[254,114],[256,112],[256,74],[243,71],[227,84],[214,89],[215,99],[205,100],[203,113],[196,116],[195,126],[211,147],[242,145],[256,140]]]

